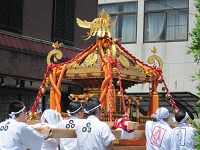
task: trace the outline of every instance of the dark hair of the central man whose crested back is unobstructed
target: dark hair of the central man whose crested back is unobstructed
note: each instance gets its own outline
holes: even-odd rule
[[[97,107],[98,105],[100,105],[100,101],[98,98],[96,97],[91,97],[87,100],[87,102],[85,102],[85,110],[89,111],[91,109],[93,109],[94,107]],[[96,109],[89,111],[88,115],[95,115],[96,114]]]

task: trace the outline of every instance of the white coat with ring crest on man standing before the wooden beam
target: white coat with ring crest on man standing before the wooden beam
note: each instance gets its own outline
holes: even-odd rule
[[[105,150],[115,139],[109,126],[93,115],[77,124],[76,134],[79,150]]]

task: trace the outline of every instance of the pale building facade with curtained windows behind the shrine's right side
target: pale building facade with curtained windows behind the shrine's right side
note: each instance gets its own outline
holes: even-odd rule
[[[156,55],[162,59],[163,76],[170,92],[182,93],[182,96],[190,93],[196,97],[200,81],[193,82],[191,76],[199,71],[200,65],[194,62],[192,54],[186,54],[192,40],[188,33],[196,21],[194,4],[195,0],[99,0],[98,12],[104,9],[111,20],[118,16],[111,30],[112,37],[119,38],[126,50],[141,61],[148,63],[151,50],[157,49]],[[162,87],[163,84],[159,84],[158,92],[163,92]],[[148,94],[148,91],[148,85],[126,89],[133,95]],[[191,98],[187,105],[196,104],[193,97],[182,97],[183,103],[184,98],[188,101]]]

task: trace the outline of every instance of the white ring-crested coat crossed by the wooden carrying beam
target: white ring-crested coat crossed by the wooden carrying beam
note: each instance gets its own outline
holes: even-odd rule
[[[80,121],[76,116],[71,116],[68,120],[62,120],[56,126],[57,128],[76,129]],[[77,150],[77,138],[60,138],[60,150]]]

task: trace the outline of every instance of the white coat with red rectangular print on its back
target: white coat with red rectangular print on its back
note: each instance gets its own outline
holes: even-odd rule
[[[145,126],[147,150],[179,150],[180,145],[177,136],[168,123],[163,120],[147,121]]]

